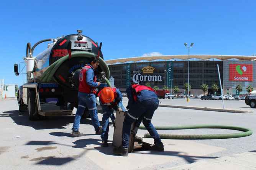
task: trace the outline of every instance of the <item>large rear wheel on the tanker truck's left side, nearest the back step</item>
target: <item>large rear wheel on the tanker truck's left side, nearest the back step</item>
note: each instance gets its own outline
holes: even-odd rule
[[[36,102],[36,93],[28,89],[28,118],[33,120],[38,120],[38,109]]]

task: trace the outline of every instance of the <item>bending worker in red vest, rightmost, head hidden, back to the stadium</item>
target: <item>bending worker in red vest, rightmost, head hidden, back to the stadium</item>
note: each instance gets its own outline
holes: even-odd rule
[[[148,130],[149,134],[154,138],[154,144],[151,149],[156,151],[164,151],[164,145],[160,136],[151,123],[154,111],[158,108],[159,100],[156,91],[151,87],[143,85],[130,85],[126,89],[129,99],[129,110],[123,121],[122,144],[119,148],[114,148],[113,153],[121,156],[128,156],[129,137],[131,132],[131,124],[137,120],[136,128],[133,129],[137,133],[141,121]]]

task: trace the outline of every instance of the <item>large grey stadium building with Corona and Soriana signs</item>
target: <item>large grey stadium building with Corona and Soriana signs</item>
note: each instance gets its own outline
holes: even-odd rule
[[[218,67],[224,95],[236,95],[238,84],[243,87],[240,95],[248,94],[246,87],[249,85],[256,87],[256,56],[190,55],[189,58],[188,61],[188,55],[143,56],[112,59],[106,63],[115,87],[120,91],[125,91],[134,82],[141,85],[149,83],[159,89],[166,85],[170,91],[177,86],[183,94],[189,73],[190,94],[203,94],[203,83],[208,85],[208,93],[213,93],[211,86],[217,84],[217,94],[220,94]]]

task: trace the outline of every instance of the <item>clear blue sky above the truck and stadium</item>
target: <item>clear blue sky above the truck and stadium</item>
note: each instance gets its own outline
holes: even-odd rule
[[[26,44],[77,34],[102,42],[105,60],[143,56],[256,53],[255,0],[97,0],[5,1],[0,6],[0,79],[22,85],[13,64]],[[47,48],[38,45],[33,56]]]

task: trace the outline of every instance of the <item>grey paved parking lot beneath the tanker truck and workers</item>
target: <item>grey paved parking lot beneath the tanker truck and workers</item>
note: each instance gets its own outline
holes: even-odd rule
[[[223,107],[222,101],[200,99],[160,99],[161,104]],[[124,106],[127,98],[123,99]],[[251,109],[244,101],[224,101],[225,108]],[[168,169],[177,165],[231,156],[256,150],[255,135],[218,140],[162,140],[164,152],[139,151],[128,157],[112,154],[113,127],[109,132],[110,146],[101,147],[90,119],[82,119],[84,136],[71,137],[73,116],[50,117],[31,122],[27,113],[20,113],[16,100],[0,100],[0,169]],[[99,119],[102,115],[99,114]],[[154,126],[217,124],[246,127],[256,132],[256,114],[199,111],[159,107],[154,114]],[[143,136],[146,130],[138,130]],[[164,134],[237,133],[225,129],[164,130]],[[143,138],[153,143],[151,138]]]

